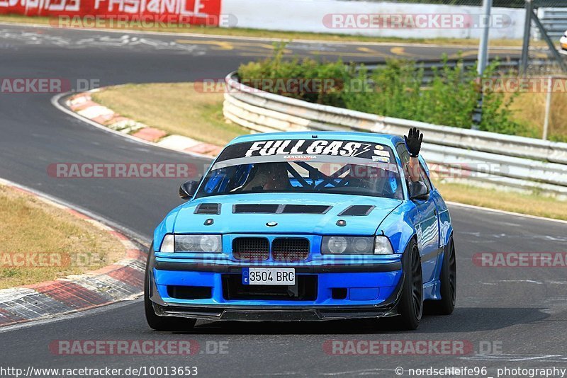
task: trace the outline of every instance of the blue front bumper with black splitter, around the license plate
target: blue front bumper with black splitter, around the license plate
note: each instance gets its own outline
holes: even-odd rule
[[[347,265],[287,265],[316,280],[316,295],[308,299],[251,299],[227,296],[227,277],[240,277],[243,267],[262,264],[200,264],[155,261],[148,269],[150,300],[158,316],[226,321],[320,321],[395,316],[403,270],[399,261]],[[275,268],[274,266],[271,266]],[[210,297],[180,299],[169,287],[210,287]],[[346,289],[344,298],[333,297]]]

